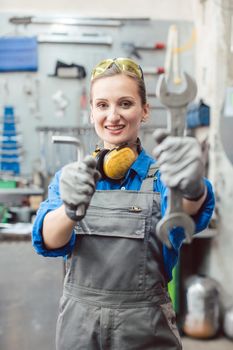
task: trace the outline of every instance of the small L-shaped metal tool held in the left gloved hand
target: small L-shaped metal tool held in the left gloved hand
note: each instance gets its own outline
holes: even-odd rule
[[[55,135],[52,137],[53,143],[62,143],[62,144],[69,144],[74,145],[77,147],[77,161],[81,161],[84,157],[84,149],[79,139],[73,136],[62,136],[62,135]],[[73,209],[73,208],[71,208]],[[77,217],[83,217],[86,212],[85,205],[80,205],[78,208],[74,209],[75,215]]]

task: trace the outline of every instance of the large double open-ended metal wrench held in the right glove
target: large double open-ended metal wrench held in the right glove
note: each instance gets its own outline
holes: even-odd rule
[[[168,90],[165,75],[160,76],[156,87],[156,95],[169,112],[168,132],[172,136],[184,136],[187,106],[197,93],[196,82],[187,73],[184,73],[184,77],[186,88],[181,93]],[[194,221],[183,211],[181,192],[177,188],[170,188],[166,213],[156,226],[158,238],[168,248],[171,248],[169,232],[175,227],[182,227],[186,241],[191,243],[195,230]]]

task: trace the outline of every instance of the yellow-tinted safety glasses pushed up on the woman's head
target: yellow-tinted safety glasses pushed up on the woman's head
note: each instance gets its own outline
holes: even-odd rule
[[[107,69],[115,64],[121,72],[129,72],[136,75],[137,78],[143,80],[142,68],[130,58],[109,58],[99,62],[92,71],[91,80],[102,75]]]

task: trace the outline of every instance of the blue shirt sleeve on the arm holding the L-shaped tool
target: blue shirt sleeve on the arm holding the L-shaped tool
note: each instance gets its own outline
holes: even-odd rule
[[[57,172],[48,187],[48,198],[40,204],[36,214],[36,219],[32,228],[32,245],[38,254],[43,256],[57,257],[69,254],[75,244],[75,234],[73,232],[70,241],[61,248],[48,250],[45,248],[42,238],[42,226],[45,215],[62,205],[62,200],[59,195],[59,177],[60,171]]]

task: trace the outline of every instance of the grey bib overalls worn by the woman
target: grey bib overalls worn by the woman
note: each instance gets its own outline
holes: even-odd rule
[[[57,321],[57,350],[182,349],[155,235],[155,167],[140,191],[96,191],[76,226]]]

